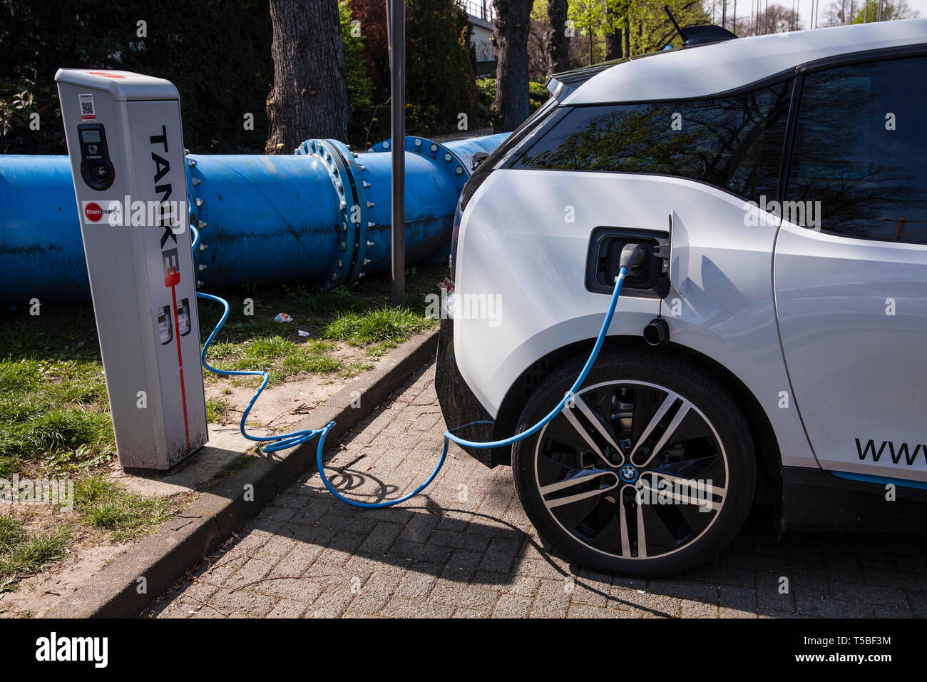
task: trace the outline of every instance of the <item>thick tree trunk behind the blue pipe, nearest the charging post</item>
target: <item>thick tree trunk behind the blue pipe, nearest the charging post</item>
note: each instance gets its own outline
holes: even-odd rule
[[[337,0],[271,0],[273,89],[269,154],[308,137],[348,137],[348,89]]]

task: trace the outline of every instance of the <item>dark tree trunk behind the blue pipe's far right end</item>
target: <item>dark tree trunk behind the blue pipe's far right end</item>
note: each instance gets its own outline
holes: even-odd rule
[[[493,38],[499,54],[496,99],[489,109],[493,128],[511,132],[527,119],[527,34],[531,0],[496,0]]]

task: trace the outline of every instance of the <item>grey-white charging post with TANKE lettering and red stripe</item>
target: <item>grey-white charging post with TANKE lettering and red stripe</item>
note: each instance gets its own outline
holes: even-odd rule
[[[120,463],[170,469],[208,440],[180,98],[128,71],[55,80]]]

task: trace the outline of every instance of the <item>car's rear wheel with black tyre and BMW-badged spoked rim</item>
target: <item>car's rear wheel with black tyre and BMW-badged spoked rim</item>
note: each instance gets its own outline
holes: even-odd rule
[[[516,432],[563,399],[585,360],[543,380]],[[629,576],[711,560],[743,526],[756,489],[753,439],[733,395],[662,349],[603,352],[564,411],[514,444],[512,468],[547,544],[580,566]]]

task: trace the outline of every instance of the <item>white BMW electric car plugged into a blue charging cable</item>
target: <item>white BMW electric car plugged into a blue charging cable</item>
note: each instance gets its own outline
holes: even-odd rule
[[[708,560],[755,504],[927,525],[927,20],[723,33],[552,77],[455,219],[436,385],[473,441],[558,405],[645,251],[564,409],[464,448],[607,573]]]

